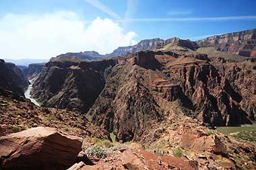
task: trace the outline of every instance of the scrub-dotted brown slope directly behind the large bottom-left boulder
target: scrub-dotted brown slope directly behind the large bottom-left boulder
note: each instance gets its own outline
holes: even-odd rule
[[[108,138],[108,132],[89,122],[84,114],[41,108],[28,99],[17,99],[13,93],[4,92],[0,93],[0,131],[5,135],[27,128],[48,126],[61,130],[63,134],[83,138]]]

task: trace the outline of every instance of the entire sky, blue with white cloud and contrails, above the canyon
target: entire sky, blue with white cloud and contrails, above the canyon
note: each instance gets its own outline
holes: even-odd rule
[[[5,58],[104,54],[146,38],[191,38],[256,28],[256,1],[1,0]]]

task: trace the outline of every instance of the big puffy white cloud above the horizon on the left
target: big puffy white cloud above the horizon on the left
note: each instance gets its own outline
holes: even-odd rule
[[[51,58],[65,52],[96,50],[110,53],[135,43],[135,32],[111,19],[97,17],[84,22],[72,11],[0,18],[0,56],[3,58]]]

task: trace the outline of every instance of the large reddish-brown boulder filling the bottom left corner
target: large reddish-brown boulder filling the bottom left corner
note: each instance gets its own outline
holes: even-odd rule
[[[1,169],[67,169],[81,150],[81,138],[55,128],[30,128],[0,138]]]

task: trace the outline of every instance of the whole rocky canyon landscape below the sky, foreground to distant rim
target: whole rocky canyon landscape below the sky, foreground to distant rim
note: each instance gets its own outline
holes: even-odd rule
[[[253,137],[225,135],[214,128],[256,121],[255,38],[254,29],[197,42],[154,38],[106,55],[68,52],[22,70],[0,60],[0,148],[8,146],[0,151],[1,167],[18,166],[22,155],[36,160],[34,150],[26,150],[25,138],[29,146],[43,140],[58,143],[66,135],[84,138],[77,139],[70,162],[44,163],[46,149],[38,153],[38,164],[30,165],[254,169]],[[36,127],[53,136],[38,139]],[[22,144],[8,144],[13,138]],[[69,146],[67,138],[58,146]],[[99,152],[106,152],[102,157],[88,150],[97,144]],[[49,148],[47,142],[36,146]],[[17,159],[15,149],[21,155]]]

